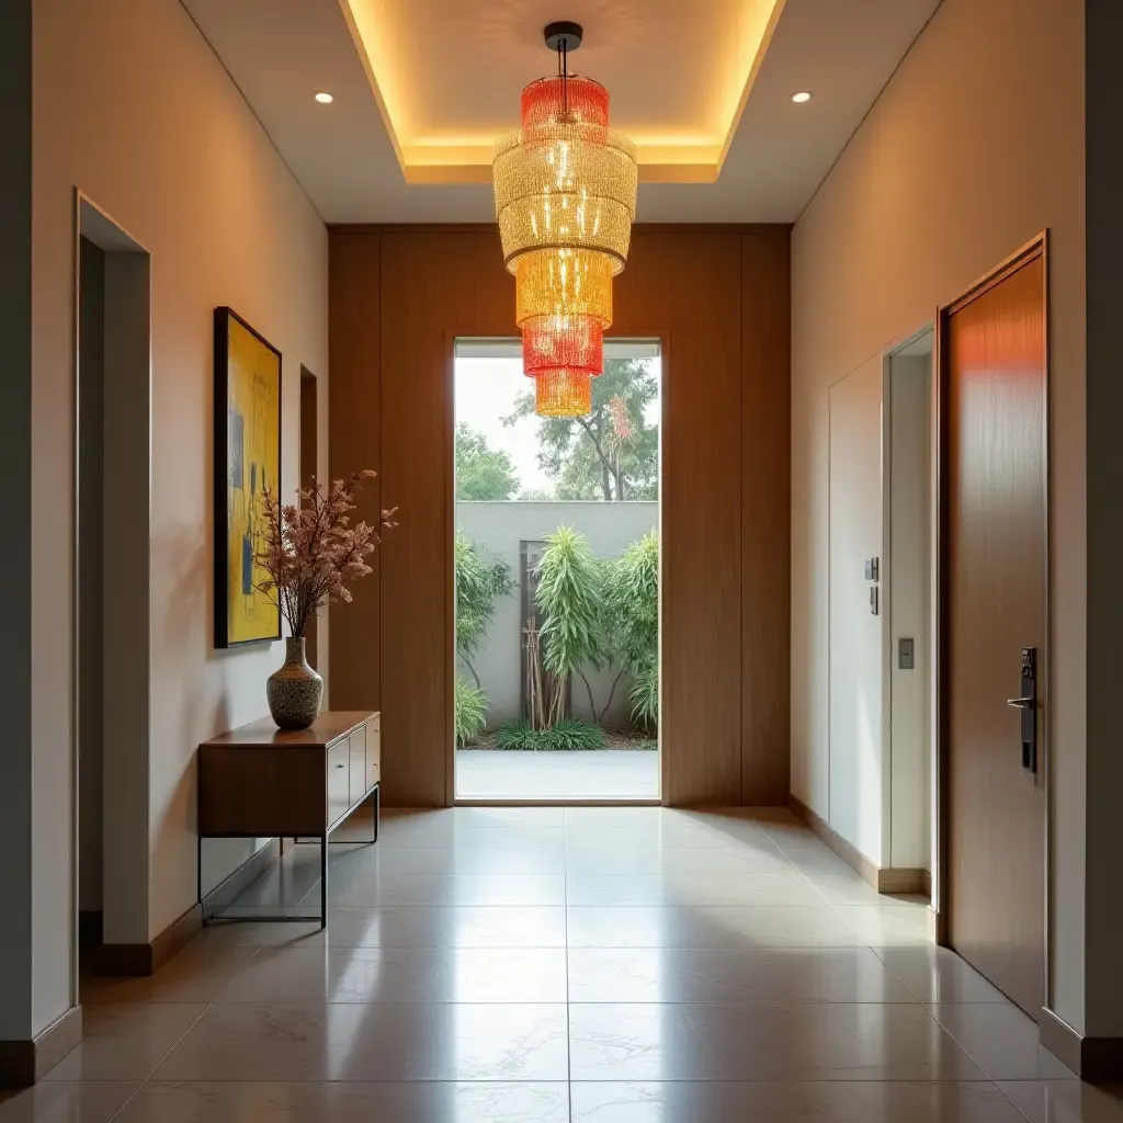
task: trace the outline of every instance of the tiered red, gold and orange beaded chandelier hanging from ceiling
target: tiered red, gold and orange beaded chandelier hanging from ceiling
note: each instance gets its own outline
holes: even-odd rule
[[[522,91],[522,127],[495,147],[495,217],[515,277],[523,371],[542,417],[592,410],[604,369],[612,279],[624,267],[636,217],[636,149],[609,128],[609,92],[569,74],[578,24],[550,24],[557,77]]]

